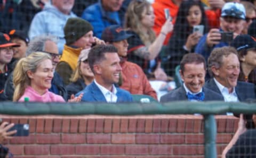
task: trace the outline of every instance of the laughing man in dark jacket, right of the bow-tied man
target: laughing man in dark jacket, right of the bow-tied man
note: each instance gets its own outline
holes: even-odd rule
[[[213,78],[205,83],[205,87],[221,94],[226,102],[255,99],[254,84],[237,81],[240,63],[235,48],[225,46],[213,49],[208,68]]]

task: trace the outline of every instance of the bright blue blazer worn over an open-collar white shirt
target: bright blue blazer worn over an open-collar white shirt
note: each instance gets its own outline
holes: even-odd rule
[[[119,89],[117,87],[116,90],[117,102],[132,102],[132,95],[130,94],[130,92]],[[102,94],[95,82],[87,85],[85,89],[81,92],[78,92],[76,96],[81,93],[84,93],[82,98],[82,101],[84,102],[107,102],[105,96]]]

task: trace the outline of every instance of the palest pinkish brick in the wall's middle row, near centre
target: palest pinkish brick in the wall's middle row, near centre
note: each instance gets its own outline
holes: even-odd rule
[[[135,134],[112,134],[112,144],[134,144]]]

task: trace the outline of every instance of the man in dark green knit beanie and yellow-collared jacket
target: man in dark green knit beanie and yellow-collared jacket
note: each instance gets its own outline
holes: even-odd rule
[[[71,74],[73,74],[77,66],[77,60],[81,50],[91,48],[95,43],[105,42],[93,37],[92,25],[79,17],[68,19],[64,27],[64,34],[66,44],[56,71],[62,77],[63,82],[68,85]]]

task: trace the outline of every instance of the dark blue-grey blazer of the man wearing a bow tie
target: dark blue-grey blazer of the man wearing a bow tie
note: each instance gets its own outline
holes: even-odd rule
[[[218,101],[223,100],[222,95],[213,92],[206,87],[203,87],[203,92],[205,94],[204,101]],[[178,89],[173,90],[165,95],[163,95],[160,99],[160,102],[169,102],[169,101],[186,101],[187,93],[183,85],[181,85]]]

